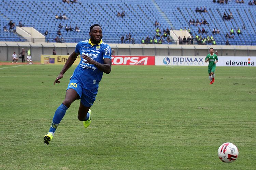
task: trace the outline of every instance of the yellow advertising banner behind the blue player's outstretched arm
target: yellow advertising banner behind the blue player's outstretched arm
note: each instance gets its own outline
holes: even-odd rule
[[[41,55],[41,64],[65,64],[69,55]],[[80,55],[77,56],[74,64],[78,65],[80,62]]]

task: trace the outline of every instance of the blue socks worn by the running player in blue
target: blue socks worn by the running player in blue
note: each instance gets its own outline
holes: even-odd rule
[[[60,121],[62,120],[62,118],[64,117],[66,110],[68,109],[68,107],[66,107],[64,104],[61,104],[55,111],[55,114],[53,116],[53,121],[51,123],[51,127],[49,132],[55,132],[55,130],[58,128],[58,125],[60,123]],[[88,115],[88,113],[87,113]],[[87,116],[86,116],[87,117]],[[89,118],[89,116],[88,116]],[[87,118],[87,119],[88,119]]]

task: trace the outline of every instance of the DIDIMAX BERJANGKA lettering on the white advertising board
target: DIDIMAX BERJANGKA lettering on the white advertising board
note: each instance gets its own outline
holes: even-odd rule
[[[203,57],[172,57],[172,65],[204,65]]]

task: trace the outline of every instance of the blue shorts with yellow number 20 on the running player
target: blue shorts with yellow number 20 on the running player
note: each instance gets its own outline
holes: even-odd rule
[[[79,81],[77,81],[74,78],[70,78],[69,80],[69,84],[68,84],[68,89],[74,89],[77,94],[80,97],[81,103],[85,106],[85,107],[90,107],[93,105],[94,101],[95,101],[95,97],[97,95],[98,89],[91,89],[91,90],[87,90],[85,88],[82,87],[82,85],[80,84]],[[67,91],[66,90],[66,91]]]

